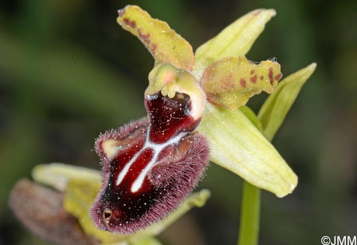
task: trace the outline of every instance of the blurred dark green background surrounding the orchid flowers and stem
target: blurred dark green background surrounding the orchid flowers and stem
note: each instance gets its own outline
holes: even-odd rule
[[[2,1],[0,3],[0,244],[48,244],[10,212],[14,183],[34,165],[99,169],[99,132],[145,115],[154,60],[116,23],[136,4],[167,21],[194,50],[257,8],[274,8],[247,57],[277,57],[286,76],[317,62],[273,144],[299,184],[283,199],[262,192],[260,244],[320,244],[357,235],[356,1]],[[266,95],[249,106],[258,112]],[[236,244],[242,180],[214,164],[198,188],[212,190],[160,239],[164,244]]]

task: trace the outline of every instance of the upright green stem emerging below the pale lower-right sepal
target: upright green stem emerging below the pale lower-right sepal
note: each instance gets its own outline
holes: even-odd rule
[[[260,193],[260,188],[244,181],[238,245],[258,244]]]

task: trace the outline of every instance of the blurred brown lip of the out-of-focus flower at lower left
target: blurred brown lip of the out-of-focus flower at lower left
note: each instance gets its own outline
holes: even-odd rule
[[[9,205],[15,216],[43,239],[64,245],[98,244],[63,207],[64,194],[30,180],[18,181]]]

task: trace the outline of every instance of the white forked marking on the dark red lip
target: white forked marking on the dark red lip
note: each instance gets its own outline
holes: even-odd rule
[[[126,165],[124,166],[123,170],[118,175],[118,178],[117,178],[117,181],[116,181],[116,185],[119,185],[121,183],[121,181],[124,179],[124,177],[127,174],[127,172],[129,171],[129,169],[132,166],[132,164],[140,156],[140,154],[146,149],[152,149],[152,151],[154,152],[154,156],[152,156],[151,160],[146,164],[145,168],[141,171],[139,176],[134,181],[134,183],[133,183],[133,185],[132,185],[132,187],[130,189],[130,191],[132,193],[137,192],[141,188],[141,186],[142,186],[142,184],[144,182],[145,176],[147,175],[147,173],[151,169],[151,167],[153,167],[154,164],[156,163],[156,161],[158,159],[158,156],[161,153],[161,151],[164,148],[166,148],[166,146],[168,146],[168,145],[179,143],[180,140],[188,134],[188,132],[180,133],[179,135],[169,139],[165,143],[156,144],[156,143],[150,142],[150,140],[149,140],[149,132],[150,132],[150,128],[147,129],[146,140],[145,140],[144,146],[141,148],[141,150],[139,152],[137,152],[133,156],[133,158],[129,162],[126,163]]]

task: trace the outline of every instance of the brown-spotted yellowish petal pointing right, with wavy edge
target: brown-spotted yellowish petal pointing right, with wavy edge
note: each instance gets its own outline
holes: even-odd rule
[[[201,86],[213,105],[235,110],[262,90],[272,93],[282,76],[274,61],[256,64],[244,56],[228,57],[207,67]]]

